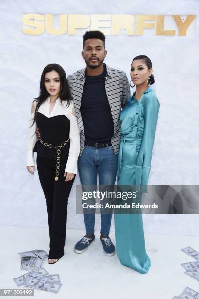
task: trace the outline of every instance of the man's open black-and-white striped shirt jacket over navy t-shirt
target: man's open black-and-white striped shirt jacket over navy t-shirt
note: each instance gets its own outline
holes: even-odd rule
[[[111,114],[114,122],[114,135],[111,139],[111,143],[115,154],[119,152],[119,139],[120,139],[120,127],[121,122],[119,119],[121,104],[125,104],[125,101],[131,96],[129,82],[126,74],[123,71],[115,68],[108,67],[107,74],[105,76],[105,90],[109,105],[111,108]],[[80,155],[84,149],[84,126],[82,116],[80,112],[83,87],[85,82],[86,68],[74,72],[74,74],[67,77],[71,97],[74,103],[75,116],[77,118],[78,126],[81,130],[80,133]]]

